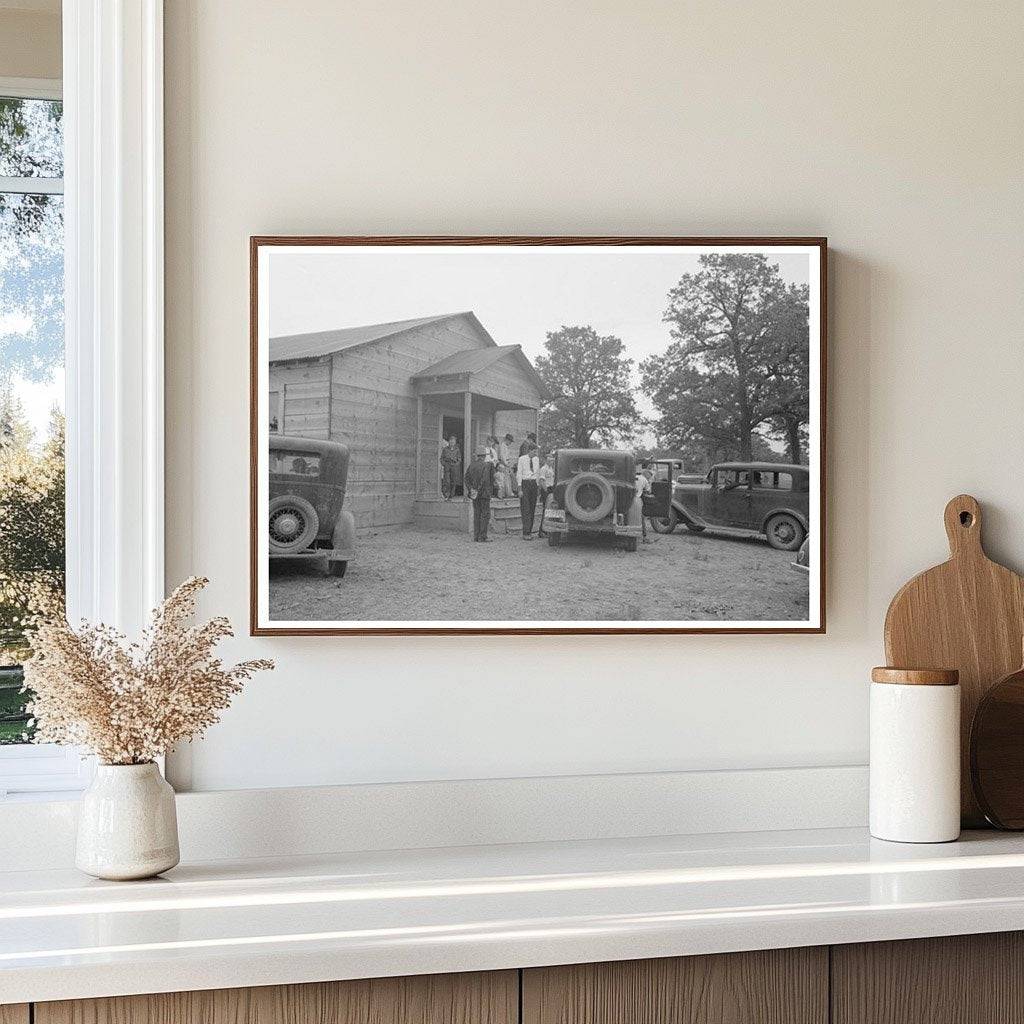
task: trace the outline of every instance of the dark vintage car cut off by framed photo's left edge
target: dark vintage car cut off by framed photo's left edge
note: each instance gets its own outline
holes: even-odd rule
[[[319,561],[343,577],[355,519],[342,508],[348,449],[336,441],[270,434],[270,558]]]

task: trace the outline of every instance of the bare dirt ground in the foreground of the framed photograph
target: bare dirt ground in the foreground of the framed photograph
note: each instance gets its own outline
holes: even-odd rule
[[[806,572],[764,541],[680,527],[638,552],[407,527],[356,542],[344,579],[273,563],[272,620],[806,620]]]

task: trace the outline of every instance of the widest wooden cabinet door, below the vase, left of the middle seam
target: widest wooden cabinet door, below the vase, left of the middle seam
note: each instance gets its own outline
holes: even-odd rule
[[[39,1002],[35,1024],[516,1024],[517,1017],[516,972],[500,971]]]

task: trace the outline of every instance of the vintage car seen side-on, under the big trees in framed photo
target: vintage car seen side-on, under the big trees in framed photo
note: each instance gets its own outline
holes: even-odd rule
[[[651,517],[659,534],[682,522],[755,530],[780,551],[797,551],[808,529],[810,473],[806,466],[774,462],[722,462],[697,483],[676,480],[668,515]]]

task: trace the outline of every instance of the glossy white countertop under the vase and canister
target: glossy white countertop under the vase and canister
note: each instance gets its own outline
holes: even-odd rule
[[[1024,837],[861,829],[0,872],[0,1002],[1024,929]]]

